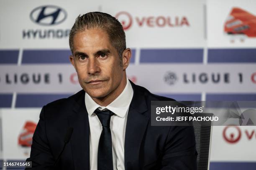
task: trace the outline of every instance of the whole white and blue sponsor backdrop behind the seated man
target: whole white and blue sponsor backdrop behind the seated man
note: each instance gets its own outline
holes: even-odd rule
[[[176,100],[256,100],[256,1],[0,0],[0,160],[25,160],[41,107],[81,89],[68,36],[92,11],[123,24],[136,84]],[[210,170],[256,167],[255,126],[212,133]]]

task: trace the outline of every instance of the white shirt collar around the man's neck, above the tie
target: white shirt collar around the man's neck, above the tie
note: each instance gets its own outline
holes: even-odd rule
[[[100,110],[108,109],[118,115],[119,117],[125,117],[125,114],[130,106],[131,100],[133,98],[133,88],[131,86],[130,81],[126,77],[126,85],[121,92],[121,94],[109,105],[106,107],[98,105],[90,95],[85,93],[85,106],[87,109],[87,112],[90,116],[92,116],[93,112],[99,108]]]

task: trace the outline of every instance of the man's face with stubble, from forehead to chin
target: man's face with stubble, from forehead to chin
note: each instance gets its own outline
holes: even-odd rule
[[[124,72],[128,65],[124,58],[124,65],[120,66],[120,57],[110,44],[108,34],[100,29],[84,30],[77,32],[73,41],[73,56],[69,59],[77,71],[81,87],[92,98],[120,94],[120,84],[126,82]]]

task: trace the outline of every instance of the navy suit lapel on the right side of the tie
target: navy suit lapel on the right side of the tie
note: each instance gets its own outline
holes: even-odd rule
[[[139,167],[140,147],[149,121],[149,117],[143,115],[148,110],[146,99],[133,82],[131,85],[133,87],[133,99],[129,107],[125,130],[126,170],[141,169]]]

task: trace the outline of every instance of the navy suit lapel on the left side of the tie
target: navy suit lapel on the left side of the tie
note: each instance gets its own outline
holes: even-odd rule
[[[69,126],[74,128],[70,143],[74,169],[90,170],[90,127],[84,94],[81,90],[74,95],[73,113],[69,116]]]

